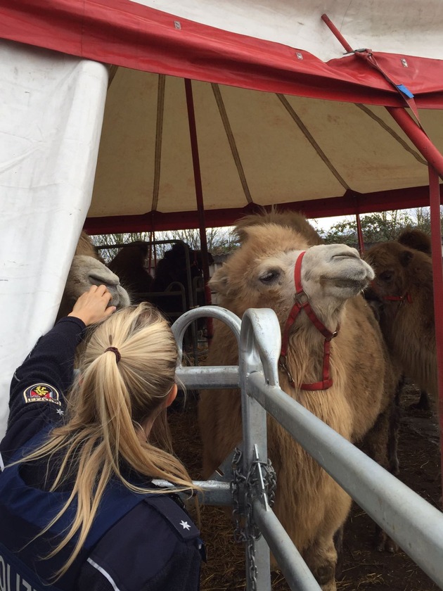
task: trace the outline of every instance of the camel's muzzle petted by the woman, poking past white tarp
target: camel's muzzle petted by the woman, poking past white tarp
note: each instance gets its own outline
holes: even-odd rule
[[[88,291],[91,285],[105,285],[113,296],[109,305],[117,309],[131,303],[127,291],[120,285],[120,279],[103,262],[87,255],[75,255],[57,317],[69,314],[77,298]]]

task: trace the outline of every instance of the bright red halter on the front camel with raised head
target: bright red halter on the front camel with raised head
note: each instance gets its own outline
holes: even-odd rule
[[[316,329],[321,332],[324,336],[325,341],[323,344],[323,379],[318,382],[314,383],[302,383],[300,384],[300,388],[302,390],[327,390],[332,386],[332,379],[329,377],[329,357],[330,357],[330,341],[338,335],[338,331],[340,330],[340,326],[337,326],[335,332],[331,332],[326,326],[320,322],[320,320],[316,317],[314,310],[312,310],[311,305],[309,304],[309,298],[306,293],[304,293],[302,288],[302,260],[305,255],[306,251],[300,253],[295,262],[294,267],[294,283],[295,283],[295,304],[293,305],[292,309],[290,310],[288,319],[286,320],[285,328],[283,330],[283,337],[281,343],[281,353],[280,353],[280,360],[279,365],[286,374],[288,374],[291,386],[294,386],[293,376],[290,375],[288,371],[288,367],[286,365],[286,354],[288,352],[288,343],[289,343],[289,331],[290,327],[294,324],[295,319],[297,319],[298,314],[302,310],[307,314],[309,320],[314,324]]]

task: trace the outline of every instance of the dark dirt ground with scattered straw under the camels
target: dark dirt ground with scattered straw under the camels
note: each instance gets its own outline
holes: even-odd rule
[[[430,411],[411,409],[418,390],[409,384],[402,395],[399,436],[399,479],[439,507],[441,476],[437,422]],[[193,478],[201,478],[201,445],[195,399],[169,415],[174,448]],[[202,591],[245,589],[244,548],[233,542],[229,519],[219,507],[201,507],[201,530],[207,547]],[[373,521],[354,503],[345,526],[344,563],[338,591],[437,591],[439,587],[401,550],[395,554],[373,549]],[[273,591],[288,591],[281,573],[273,573]]]

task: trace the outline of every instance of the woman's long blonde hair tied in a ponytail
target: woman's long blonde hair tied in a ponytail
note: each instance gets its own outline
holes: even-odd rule
[[[106,350],[110,347],[117,348],[120,359],[113,350]],[[53,557],[78,536],[58,577],[82,549],[110,478],[117,478],[134,492],[152,490],[148,484],[129,482],[122,474],[122,462],[141,476],[174,483],[178,490],[194,488],[183,464],[172,455],[166,407],[150,433],[157,445],[148,440],[142,443],[136,433],[140,424],[166,402],[174,386],[176,360],[176,342],[169,324],[147,303],[115,312],[94,327],[80,362],[79,379],[68,396],[68,421],[53,428],[46,443],[22,460],[48,457],[50,461],[63,450],[63,461],[50,490],[68,482],[72,483],[72,492],[41,532],[49,530],[72,502],[77,503],[65,538],[47,557]]]

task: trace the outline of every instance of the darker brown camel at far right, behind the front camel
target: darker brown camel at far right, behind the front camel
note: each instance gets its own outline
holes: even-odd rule
[[[404,374],[437,398],[429,237],[418,230],[404,232],[398,241],[375,244],[365,260],[375,272],[372,291],[383,302],[380,327],[387,347]]]

